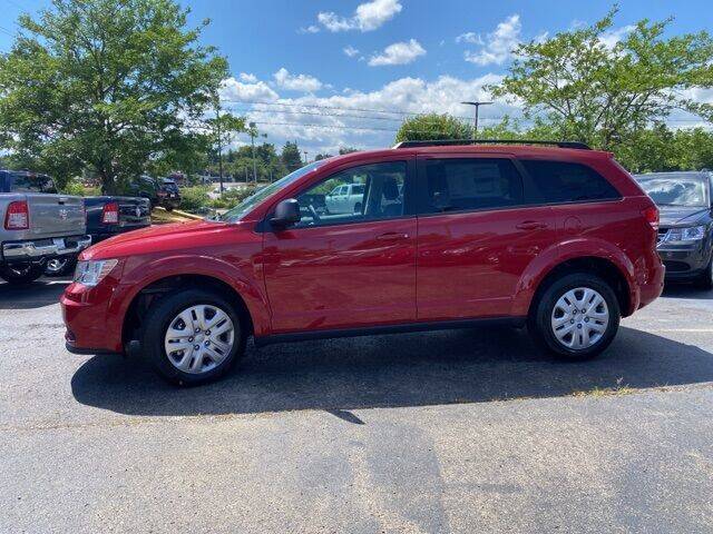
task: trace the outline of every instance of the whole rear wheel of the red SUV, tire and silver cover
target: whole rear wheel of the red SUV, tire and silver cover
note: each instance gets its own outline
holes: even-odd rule
[[[614,339],[621,310],[612,287],[602,278],[572,274],[551,284],[529,318],[536,340],[570,360],[594,357]]]

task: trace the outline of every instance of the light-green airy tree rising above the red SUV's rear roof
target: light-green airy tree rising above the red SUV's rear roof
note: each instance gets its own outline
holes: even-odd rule
[[[609,149],[677,108],[713,119],[713,107],[686,90],[713,86],[707,32],[666,37],[671,19],[635,24],[607,44],[617,8],[590,27],[534,40],[515,50],[494,97],[518,100],[526,116],[546,117],[560,138]]]

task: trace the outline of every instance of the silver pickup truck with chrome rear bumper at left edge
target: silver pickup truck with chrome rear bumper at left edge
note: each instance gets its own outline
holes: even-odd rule
[[[48,176],[0,170],[0,278],[28,284],[48,259],[88,247],[84,199],[57,195]]]

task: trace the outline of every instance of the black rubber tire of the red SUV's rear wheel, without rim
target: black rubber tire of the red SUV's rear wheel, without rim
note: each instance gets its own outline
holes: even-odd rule
[[[553,332],[551,320],[557,300],[567,291],[580,287],[594,289],[602,295],[609,318],[606,329],[598,340],[586,348],[573,349],[557,339]],[[579,310],[579,313],[582,312]],[[618,330],[621,317],[618,299],[606,281],[588,273],[575,273],[555,280],[543,291],[538,301],[533,306],[528,318],[528,330],[535,340],[549,353],[563,359],[579,362],[597,356],[609,346]]]

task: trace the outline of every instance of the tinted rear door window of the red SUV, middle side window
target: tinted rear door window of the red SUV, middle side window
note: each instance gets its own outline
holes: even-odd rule
[[[518,206],[522,178],[509,159],[428,159],[421,212],[469,211]]]

